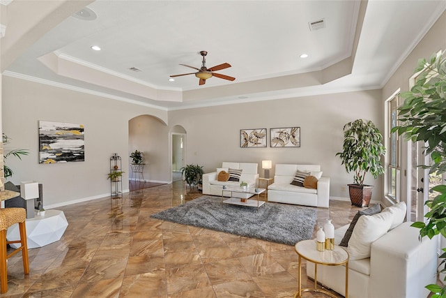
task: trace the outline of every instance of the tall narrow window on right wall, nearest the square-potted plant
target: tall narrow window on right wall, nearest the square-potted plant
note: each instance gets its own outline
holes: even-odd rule
[[[387,100],[387,197],[399,202],[400,147],[398,133],[390,133],[397,126],[399,94]]]

